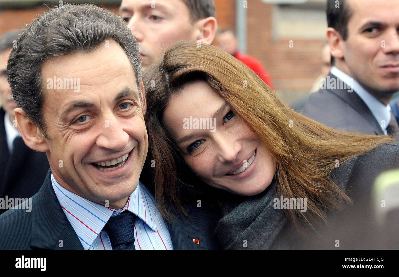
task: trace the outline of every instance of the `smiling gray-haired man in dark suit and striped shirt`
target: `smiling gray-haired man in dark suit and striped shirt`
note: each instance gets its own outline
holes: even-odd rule
[[[171,211],[171,224],[139,182],[148,150],[140,52],[119,16],[94,5],[45,12],[7,74],[22,137],[50,170],[32,212],[0,216],[0,249],[217,248],[207,205],[187,203],[194,220]]]

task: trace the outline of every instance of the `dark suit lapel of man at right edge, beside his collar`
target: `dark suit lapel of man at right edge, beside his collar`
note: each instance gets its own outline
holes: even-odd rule
[[[339,79],[333,74],[329,74],[330,79]],[[338,83],[338,82],[337,82]],[[363,119],[365,123],[370,125],[374,129],[374,133],[376,135],[382,135],[384,132],[381,129],[381,126],[371,113],[369,107],[364,103],[363,100],[359,97],[359,95],[352,91],[351,93],[348,92],[347,89],[329,89],[331,93],[334,93],[337,97],[348,103],[352,109],[354,109]]]

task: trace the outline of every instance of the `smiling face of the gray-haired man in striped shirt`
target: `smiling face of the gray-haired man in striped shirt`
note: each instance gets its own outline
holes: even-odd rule
[[[62,186],[97,203],[123,206],[146,158],[148,137],[134,76],[113,40],[109,47],[69,54],[42,68],[51,170]],[[79,87],[51,89],[54,78],[76,78]]]

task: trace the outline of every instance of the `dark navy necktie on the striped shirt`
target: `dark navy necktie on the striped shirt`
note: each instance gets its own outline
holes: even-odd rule
[[[107,231],[113,250],[134,250],[134,221],[131,212],[122,212],[109,218],[104,229]]]

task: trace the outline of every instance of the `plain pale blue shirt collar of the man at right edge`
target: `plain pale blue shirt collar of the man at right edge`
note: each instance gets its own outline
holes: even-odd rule
[[[391,122],[391,107],[389,105],[385,106],[383,103],[381,103],[373,95],[367,92],[354,78],[350,77],[344,71],[338,69],[338,67],[333,66],[330,73],[341,79],[344,83],[346,83],[346,85],[352,87],[356,94],[359,95],[361,100],[363,100],[367,107],[369,107],[374,118],[381,126],[381,129],[384,131],[385,135],[387,135],[387,127]]]

